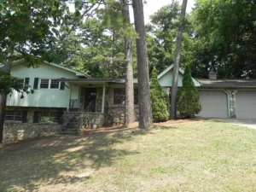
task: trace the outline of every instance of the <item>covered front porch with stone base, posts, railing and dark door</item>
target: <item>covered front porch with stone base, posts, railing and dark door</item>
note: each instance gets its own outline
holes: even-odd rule
[[[75,125],[81,130],[125,123],[123,91],[115,91],[124,90],[124,82],[118,79],[65,79],[65,82],[69,84],[70,100],[62,118],[63,126]],[[136,112],[138,115],[137,106]]]

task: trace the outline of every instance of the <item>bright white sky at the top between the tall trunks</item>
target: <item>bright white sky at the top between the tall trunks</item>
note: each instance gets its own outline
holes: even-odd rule
[[[182,5],[183,0],[178,0]],[[144,5],[144,17],[145,23],[149,22],[149,15],[154,15],[161,7],[172,3],[172,0],[147,0],[147,4]],[[188,0],[187,13],[189,13],[194,7],[195,0]],[[131,10],[131,21],[133,22],[133,13]]]

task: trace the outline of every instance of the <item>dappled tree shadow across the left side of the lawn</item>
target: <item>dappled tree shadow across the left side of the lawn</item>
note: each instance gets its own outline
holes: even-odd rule
[[[86,183],[90,172],[112,166],[125,155],[137,154],[129,148],[115,148],[116,144],[145,134],[153,133],[138,129],[101,131],[6,146],[0,149],[0,191],[32,191],[42,183]]]

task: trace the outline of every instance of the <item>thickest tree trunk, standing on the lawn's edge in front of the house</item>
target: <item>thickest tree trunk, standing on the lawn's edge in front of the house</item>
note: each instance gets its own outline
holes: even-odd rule
[[[139,100],[139,127],[153,126],[151,98],[149,91],[148,51],[144,24],[143,0],[132,0],[135,29],[137,38],[137,74],[138,74],[138,100]]]

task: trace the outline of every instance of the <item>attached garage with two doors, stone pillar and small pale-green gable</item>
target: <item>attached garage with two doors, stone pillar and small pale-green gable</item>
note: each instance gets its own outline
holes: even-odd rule
[[[164,88],[172,87],[173,65],[158,75]],[[183,86],[183,70],[179,68],[178,87]],[[198,88],[203,118],[256,119],[256,79],[217,79],[211,72],[209,79],[193,79]]]

